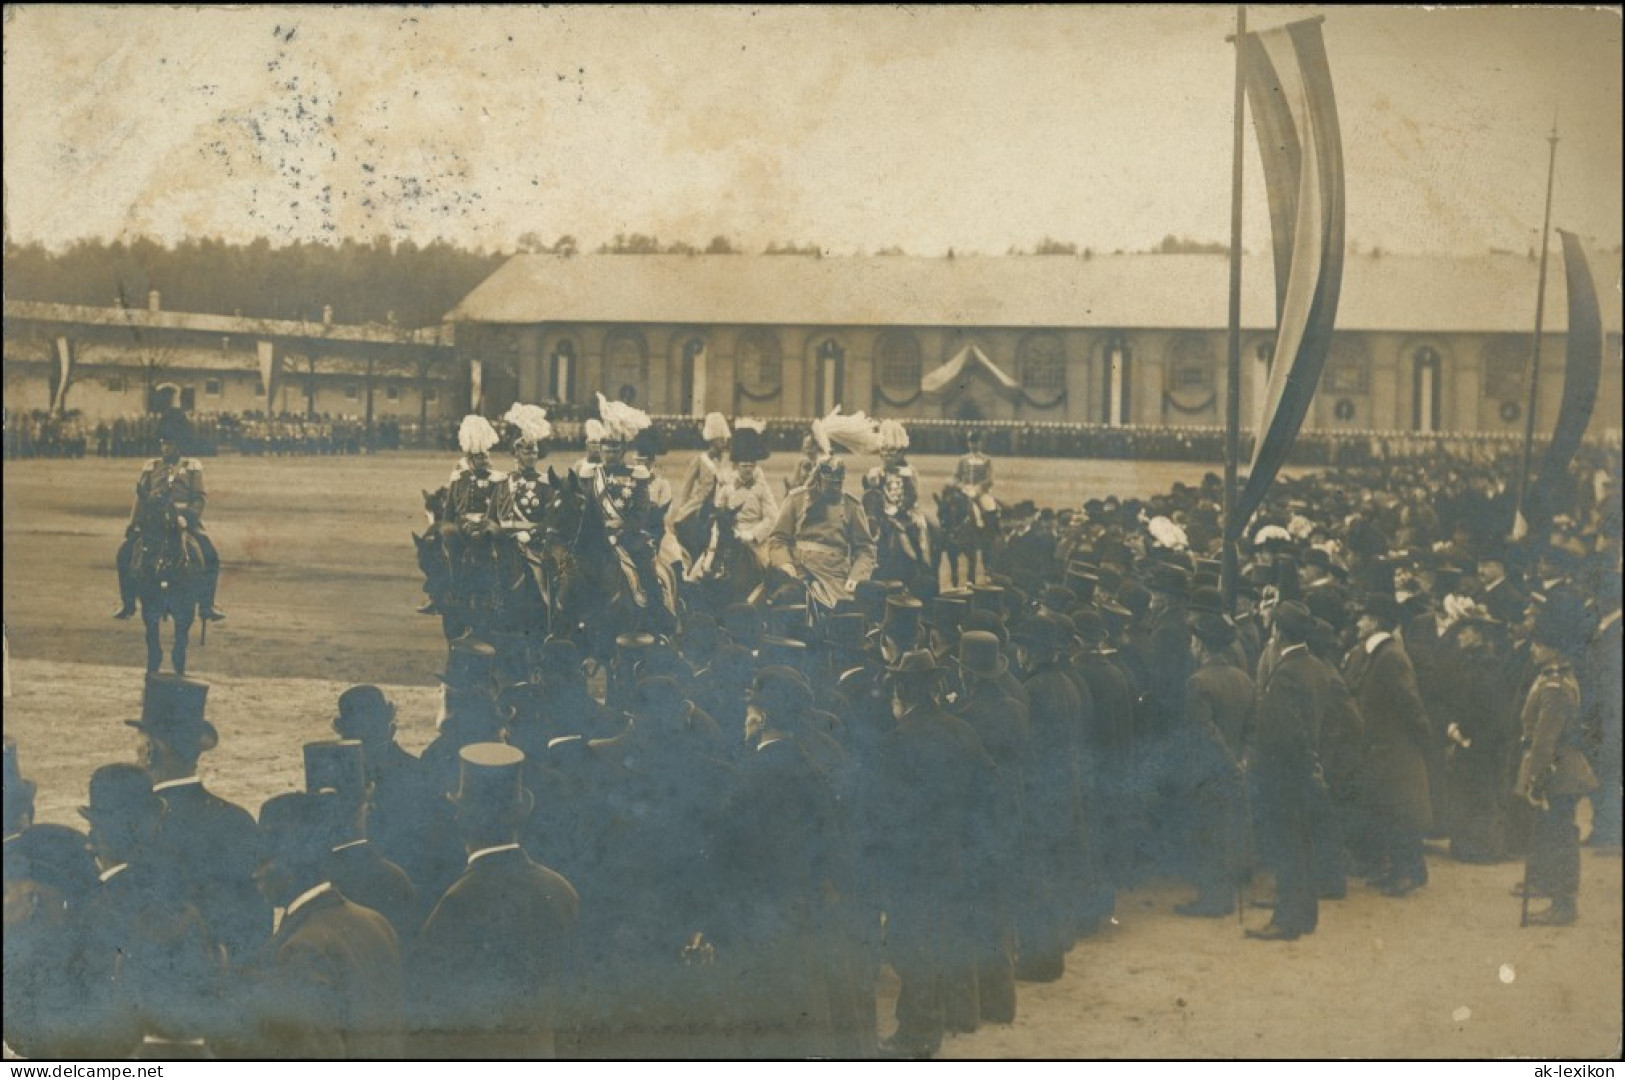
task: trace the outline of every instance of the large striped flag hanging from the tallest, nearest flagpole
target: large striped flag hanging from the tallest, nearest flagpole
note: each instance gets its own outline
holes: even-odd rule
[[[1315,398],[1344,257],[1342,135],[1320,19],[1245,34],[1240,63],[1269,193],[1276,362],[1232,539],[1264,500]]]

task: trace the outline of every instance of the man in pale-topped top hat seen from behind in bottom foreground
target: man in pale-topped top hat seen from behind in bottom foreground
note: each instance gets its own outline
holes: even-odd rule
[[[551,1057],[570,1022],[580,900],[530,859],[525,755],[499,742],[460,752],[452,796],[468,869],[440,896],[410,961],[411,1051],[426,1057]]]

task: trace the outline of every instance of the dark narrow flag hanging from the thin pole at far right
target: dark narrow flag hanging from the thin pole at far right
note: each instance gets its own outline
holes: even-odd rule
[[[1602,378],[1602,305],[1597,302],[1591,265],[1580,237],[1562,229],[1557,234],[1563,237],[1563,279],[1568,283],[1568,352],[1563,364],[1563,403],[1557,413],[1557,427],[1552,429],[1552,442],[1540,460],[1540,479],[1526,484],[1524,502],[1529,505],[1523,508],[1523,516],[1531,529],[1542,529],[1550,520],[1545,499],[1557,490],[1580,448]]]

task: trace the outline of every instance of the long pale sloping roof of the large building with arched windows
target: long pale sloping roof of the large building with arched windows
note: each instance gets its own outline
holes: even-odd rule
[[[1545,326],[1566,328],[1554,242]],[[1617,257],[1592,257],[1620,330]],[[447,318],[489,323],[1222,328],[1224,255],[515,255]],[[1274,325],[1274,271],[1245,258],[1242,320]],[[1531,333],[1537,263],[1513,255],[1354,255],[1341,330]]]

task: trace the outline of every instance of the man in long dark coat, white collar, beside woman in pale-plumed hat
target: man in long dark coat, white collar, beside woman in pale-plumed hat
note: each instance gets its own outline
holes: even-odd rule
[[[1344,661],[1344,680],[1365,721],[1365,802],[1380,836],[1386,872],[1373,882],[1384,896],[1427,885],[1422,836],[1433,809],[1427,783],[1432,736],[1415,671],[1394,637],[1399,604],[1393,593],[1370,593],[1357,624],[1358,643]]]

